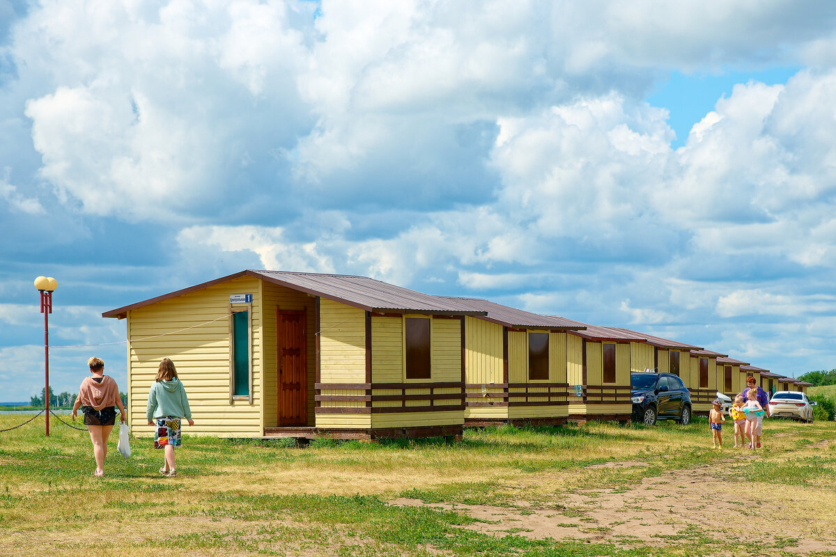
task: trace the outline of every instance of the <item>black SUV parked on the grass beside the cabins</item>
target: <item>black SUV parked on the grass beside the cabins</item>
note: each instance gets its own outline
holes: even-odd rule
[[[630,373],[633,420],[652,426],[657,419],[691,422],[691,393],[673,373]]]

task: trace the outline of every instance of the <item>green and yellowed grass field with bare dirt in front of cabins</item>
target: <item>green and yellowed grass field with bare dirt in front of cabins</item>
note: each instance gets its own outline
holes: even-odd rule
[[[43,417],[0,433],[3,556],[836,553],[836,423],[767,420],[758,451],[728,427],[712,450],[705,419],[460,443],[186,437],[177,478],[148,439],[121,458],[114,434],[104,479],[87,433],[50,433]]]

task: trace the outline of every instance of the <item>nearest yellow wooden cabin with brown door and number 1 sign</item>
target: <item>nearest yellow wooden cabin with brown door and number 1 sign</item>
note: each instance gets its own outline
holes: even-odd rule
[[[130,306],[135,433],[170,357],[195,419],[220,437],[461,434],[466,316],[456,301],[364,276],[241,271]]]

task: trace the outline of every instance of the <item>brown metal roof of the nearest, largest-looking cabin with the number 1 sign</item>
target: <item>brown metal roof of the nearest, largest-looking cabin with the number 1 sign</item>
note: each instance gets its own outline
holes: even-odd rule
[[[367,276],[325,275],[319,273],[297,273],[286,271],[241,271],[234,275],[223,276],[214,281],[202,282],[182,290],[140,301],[130,306],[105,311],[103,317],[125,316],[127,311],[147,306],[157,301],[174,296],[181,296],[191,291],[201,290],[221,282],[231,281],[239,276],[254,276],[263,281],[287,286],[296,291],[303,291],[313,296],[321,296],[339,301],[365,311],[404,313],[446,314],[484,316],[485,311],[474,311],[456,301],[445,300],[422,292],[409,290],[401,286],[376,281]]]

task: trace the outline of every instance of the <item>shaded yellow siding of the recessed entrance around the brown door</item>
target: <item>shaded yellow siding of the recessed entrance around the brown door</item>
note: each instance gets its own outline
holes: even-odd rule
[[[278,360],[276,352],[276,311],[304,311],[306,362],[308,368],[308,425],[314,425],[314,382],[316,381],[316,298],[286,286],[262,281],[264,310],[264,424],[277,425]]]

